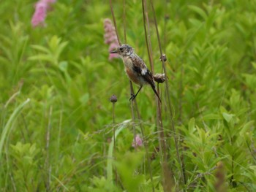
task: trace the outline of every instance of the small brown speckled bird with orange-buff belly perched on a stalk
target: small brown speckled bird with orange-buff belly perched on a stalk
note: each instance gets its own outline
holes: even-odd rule
[[[129,77],[129,80],[140,86],[138,92],[135,95],[132,94],[129,101],[131,99],[132,101],[135,99],[141,88],[143,88],[143,85],[149,84],[151,85],[154,93],[157,95],[160,103],[162,103],[159,94],[157,93],[156,85],[154,84],[153,75],[147,68],[143,59],[135,53],[135,50],[130,45],[122,44],[121,46],[117,47],[116,50],[110,51],[110,53],[117,53],[123,59],[124,71]]]

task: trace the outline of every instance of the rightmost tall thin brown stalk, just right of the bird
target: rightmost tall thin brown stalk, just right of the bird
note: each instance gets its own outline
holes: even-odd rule
[[[152,12],[153,12],[153,15],[154,15],[154,24],[155,24],[155,28],[156,28],[156,31],[157,31],[157,41],[158,41],[158,45],[159,45],[159,51],[160,51],[160,55],[161,55],[161,58],[162,58],[162,45],[161,45],[161,41],[160,41],[160,36],[159,36],[159,31],[158,31],[158,27],[157,27],[157,18],[156,18],[156,12],[154,10],[154,4],[153,4],[153,1],[151,0],[151,8],[152,8]],[[164,69],[164,72],[165,72],[165,86],[166,86],[166,91],[167,91],[167,104],[168,104],[168,110],[170,112],[170,120],[171,120],[171,128],[172,128],[172,132],[173,132],[173,139],[174,139],[174,142],[175,142],[175,147],[176,147],[176,155],[177,155],[177,158],[178,158],[178,164],[181,166],[181,180],[182,180],[182,183],[185,184],[185,176],[184,176],[184,172],[182,172],[182,163],[181,163],[181,156],[178,152],[178,139],[177,139],[177,134],[176,134],[176,128],[174,126],[174,120],[173,120],[173,111],[172,111],[172,106],[171,106],[171,101],[170,101],[170,93],[169,93],[169,85],[168,85],[168,81],[167,81],[167,70],[166,70],[166,67],[165,67],[165,61],[164,59],[161,59],[162,60],[162,68]]]

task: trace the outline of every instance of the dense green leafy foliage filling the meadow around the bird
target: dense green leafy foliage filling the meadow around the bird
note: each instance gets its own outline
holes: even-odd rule
[[[35,2],[0,7],[1,191],[164,191],[154,93],[143,88],[142,118],[132,122],[123,64],[108,61],[103,39],[102,21],[112,19],[108,2],[56,1],[46,26],[32,28]],[[157,73],[162,63],[146,3]],[[217,191],[220,183],[227,191],[256,191],[256,1],[154,5],[184,165],[181,170],[165,85],[159,85],[170,187]],[[125,8],[127,43],[149,66],[141,1],[126,1]],[[123,2],[113,2],[113,9],[124,42]],[[142,134],[140,126],[151,161],[145,147],[132,147],[132,128]]]

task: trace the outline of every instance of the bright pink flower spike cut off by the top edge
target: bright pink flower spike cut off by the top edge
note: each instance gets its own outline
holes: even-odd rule
[[[55,3],[56,0],[39,0],[35,5],[34,15],[31,20],[33,27],[45,26],[45,18],[47,11],[50,9],[50,4]]]

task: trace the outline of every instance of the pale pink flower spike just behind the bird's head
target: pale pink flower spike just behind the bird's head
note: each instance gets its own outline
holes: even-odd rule
[[[112,21],[108,18],[104,20],[104,30],[105,30],[104,42],[105,44],[110,45],[108,51],[110,52],[111,50],[116,50],[116,48],[119,47],[118,39],[116,36],[116,30],[112,24]],[[110,53],[108,60],[112,61],[113,58],[118,58],[118,54]]]

